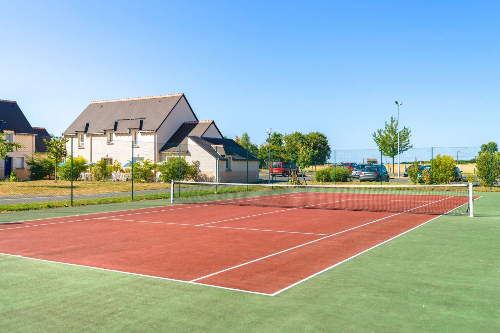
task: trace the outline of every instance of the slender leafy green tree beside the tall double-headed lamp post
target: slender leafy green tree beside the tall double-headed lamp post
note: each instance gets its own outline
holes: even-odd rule
[[[383,155],[392,157],[392,170],[394,170],[394,156],[397,155],[397,119],[390,116],[390,123],[385,122],[385,128],[377,129],[372,134],[373,141],[378,147],[378,150]],[[409,138],[411,130],[403,127],[399,131],[399,154],[413,147]]]

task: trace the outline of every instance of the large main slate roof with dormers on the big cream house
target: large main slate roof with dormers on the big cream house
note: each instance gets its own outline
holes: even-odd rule
[[[130,128],[155,131],[181,98],[185,98],[184,94],[91,102],[62,134],[103,133],[111,129],[128,133]]]

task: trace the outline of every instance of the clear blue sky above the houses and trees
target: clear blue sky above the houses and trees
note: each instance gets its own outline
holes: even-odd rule
[[[0,99],[61,133],[92,100],[184,92],[233,138],[320,131],[374,148],[498,138],[498,2],[0,1]]]

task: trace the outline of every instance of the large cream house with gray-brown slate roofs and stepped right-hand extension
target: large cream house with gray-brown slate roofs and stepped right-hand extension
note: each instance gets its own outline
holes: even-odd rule
[[[68,139],[68,152],[72,149],[74,157],[88,162],[161,163],[180,154],[189,162],[198,161],[204,180],[246,180],[244,148],[224,139],[213,120],[199,121],[184,94],[90,102],[62,135]],[[232,150],[225,153],[226,148]],[[250,158],[249,180],[257,181],[258,161]],[[243,164],[244,177],[239,170]]]

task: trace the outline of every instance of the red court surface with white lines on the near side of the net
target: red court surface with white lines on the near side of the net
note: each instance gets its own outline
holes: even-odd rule
[[[437,216],[185,204],[0,224],[0,253],[276,295]]]

